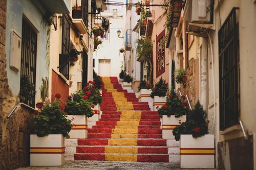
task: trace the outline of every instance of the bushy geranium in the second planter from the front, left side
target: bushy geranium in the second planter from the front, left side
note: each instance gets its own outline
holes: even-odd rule
[[[92,102],[88,100],[82,90],[71,94],[68,97],[65,112],[69,115],[93,116]]]

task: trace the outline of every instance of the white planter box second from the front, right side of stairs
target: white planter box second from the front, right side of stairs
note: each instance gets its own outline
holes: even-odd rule
[[[174,115],[170,115],[169,117],[167,115],[163,115],[163,123],[162,123],[162,138],[163,139],[175,139],[173,135],[173,129],[176,126],[180,126],[179,124],[182,122],[186,122],[186,115],[175,117]]]

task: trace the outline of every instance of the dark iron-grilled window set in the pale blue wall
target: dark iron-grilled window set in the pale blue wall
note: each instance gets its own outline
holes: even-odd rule
[[[37,34],[23,20],[19,101],[31,107],[35,107],[36,49]]]

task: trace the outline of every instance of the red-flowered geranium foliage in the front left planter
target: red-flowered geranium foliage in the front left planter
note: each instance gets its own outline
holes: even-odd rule
[[[69,138],[69,131],[71,130],[71,120],[67,119],[63,110],[64,105],[61,105],[60,94],[55,95],[54,102],[46,98],[45,103],[39,102],[36,104],[38,110],[33,119],[35,122],[35,133],[39,137],[47,136],[49,134],[62,134]]]

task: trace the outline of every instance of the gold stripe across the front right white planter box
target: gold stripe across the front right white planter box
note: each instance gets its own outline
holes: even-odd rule
[[[181,148],[180,155],[214,155],[214,148]]]

